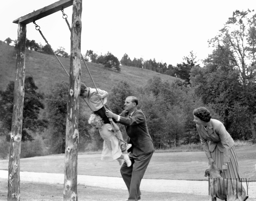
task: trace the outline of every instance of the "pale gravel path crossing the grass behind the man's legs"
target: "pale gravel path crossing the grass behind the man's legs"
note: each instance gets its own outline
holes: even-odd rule
[[[0,178],[8,179],[8,171],[0,170]],[[20,172],[20,181],[64,184],[64,174]],[[102,188],[127,189],[123,179],[120,177],[77,175],[77,184]],[[247,189],[247,185],[250,201],[256,200],[256,182],[243,183],[245,189]],[[142,179],[141,190],[148,192],[208,195],[208,181]]]

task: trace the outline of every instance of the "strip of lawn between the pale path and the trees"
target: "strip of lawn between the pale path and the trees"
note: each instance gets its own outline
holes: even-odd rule
[[[256,144],[237,146],[241,178],[256,181]],[[208,160],[202,151],[155,152],[144,175],[146,179],[207,180]],[[78,174],[121,177],[117,161],[101,161],[100,154],[79,154]],[[0,170],[8,170],[8,160],[0,160]],[[20,171],[64,173],[64,154],[20,159]]]

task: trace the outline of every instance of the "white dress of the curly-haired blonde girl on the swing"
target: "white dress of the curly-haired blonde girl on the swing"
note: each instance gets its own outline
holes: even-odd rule
[[[101,160],[118,159],[122,155],[122,151],[119,145],[119,140],[115,136],[111,124],[104,124],[104,126],[99,129],[99,133],[104,140]]]

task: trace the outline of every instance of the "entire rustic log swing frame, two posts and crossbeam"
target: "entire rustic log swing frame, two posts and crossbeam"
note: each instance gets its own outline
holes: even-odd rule
[[[81,78],[81,31],[82,0],[60,0],[49,6],[19,17],[16,75],[11,128],[11,146],[8,167],[8,200],[20,200],[20,147],[22,138],[22,116],[24,104],[26,25],[73,5],[71,28],[71,57],[69,72],[69,96],[66,120],[66,148],[64,160],[64,201],[77,201],[77,147],[79,141],[79,93]]]

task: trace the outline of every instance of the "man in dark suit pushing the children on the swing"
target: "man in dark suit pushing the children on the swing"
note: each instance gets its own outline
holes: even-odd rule
[[[125,126],[128,135],[127,143],[132,144],[132,147],[128,149],[132,165],[127,167],[124,162],[120,169],[129,191],[127,200],[131,201],[140,200],[140,182],[155,151],[146,118],[141,110],[137,110],[137,105],[138,99],[128,96],[124,103],[125,110],[120,115],[106,111],[108,118],[114,118]]]

